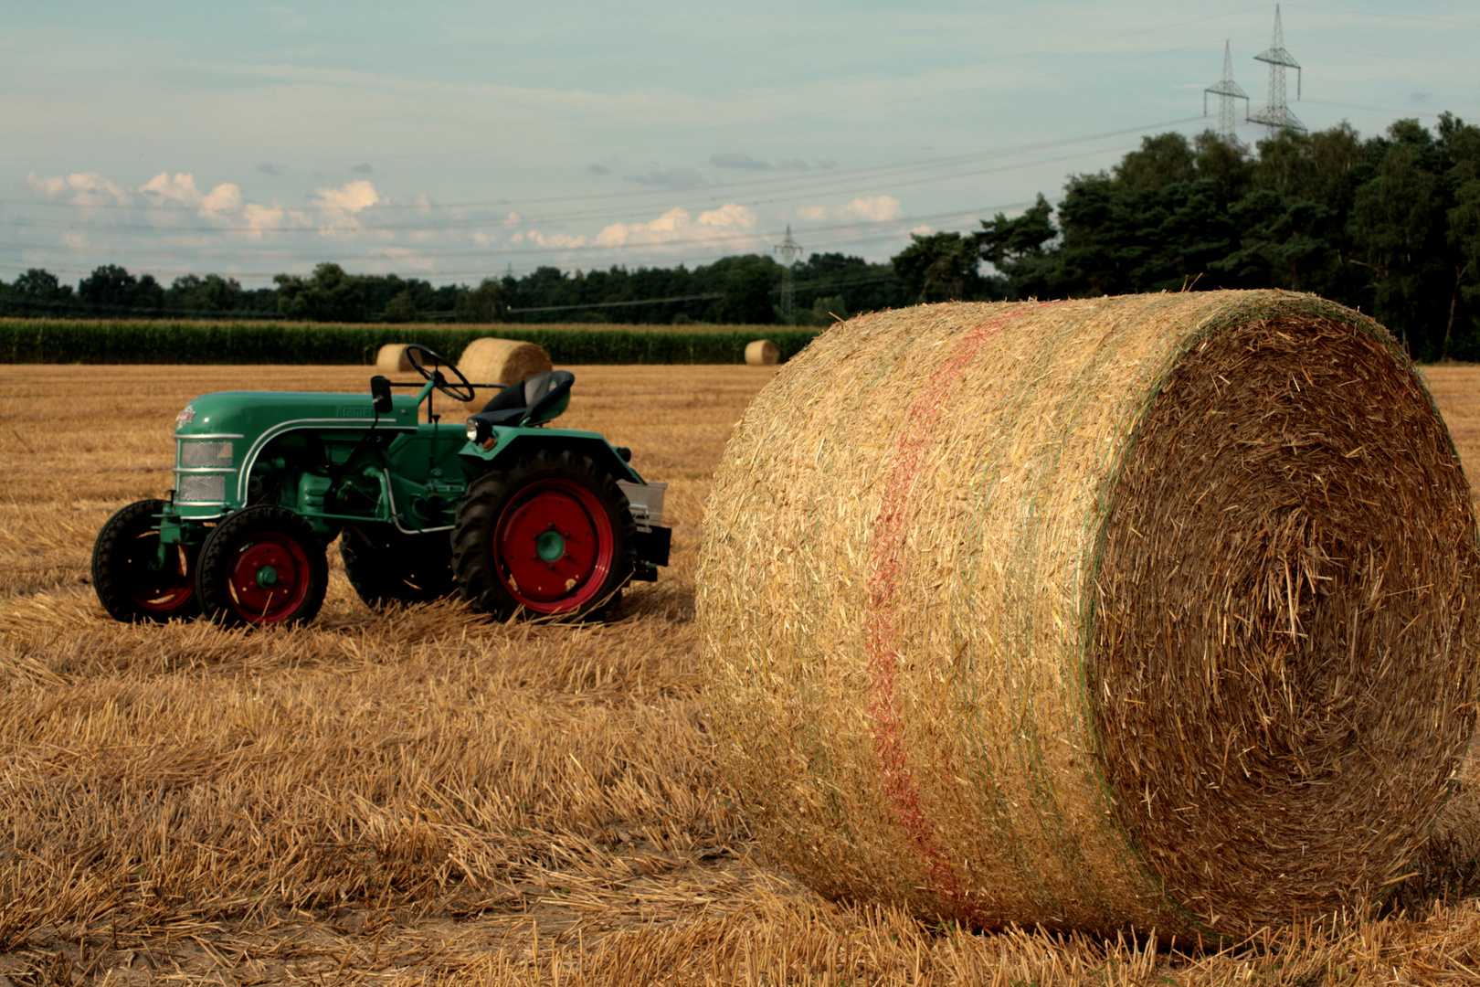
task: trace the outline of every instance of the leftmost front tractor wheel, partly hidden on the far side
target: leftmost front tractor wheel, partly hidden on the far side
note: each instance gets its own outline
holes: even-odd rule
[[[155,515],[163,500],[136,500],[102,525],[93,543],[93,590],[114,620],[126,623],[188,620],[200,616],[195,593],[195,549],[166,550],[160,565]]]

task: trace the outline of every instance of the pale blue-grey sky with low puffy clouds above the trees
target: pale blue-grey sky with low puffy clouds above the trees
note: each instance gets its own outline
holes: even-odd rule
[[[887,260],[1268,99],[1274,4],[0,0],[0,280]],[[1291,111],[1480,121],[1474,0],[1283,3]],[[1243,117],[1243,105],[1239,105]],[[1252,144],[1264,127],[1240,123]]]

